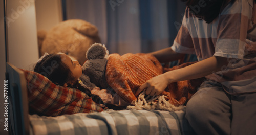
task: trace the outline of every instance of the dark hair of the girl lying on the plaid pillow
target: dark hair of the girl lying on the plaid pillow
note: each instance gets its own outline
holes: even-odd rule
[[[61,61],[60,55],[56,53],[45,56],[41,62],[35,65],[34,72],[61,86],[75,80],[68,66]]]

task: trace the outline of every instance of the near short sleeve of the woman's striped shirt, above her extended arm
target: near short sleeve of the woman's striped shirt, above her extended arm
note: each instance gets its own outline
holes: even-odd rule
[[[244,57],[247,31],[252,26],[252,10],[252,0],[234,1],[224,8],[219,16],[214,56],[238,59]]]

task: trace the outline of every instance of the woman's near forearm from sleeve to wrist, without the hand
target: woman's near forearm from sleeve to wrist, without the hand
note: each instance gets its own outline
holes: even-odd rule
[[[211,73],[220,71],[223,65],[227,65],[226,58],[212,56],[182,69],[166,72],[163,75],[169,83],[172,83],[205,77]]]

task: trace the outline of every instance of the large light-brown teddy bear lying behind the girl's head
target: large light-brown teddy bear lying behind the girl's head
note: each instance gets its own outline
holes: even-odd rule
[[[40,56],[47,53],[62,52],[77,60],[82,65],[88,48],[100,42],[96,26],[81,19],[70,19],[60,22],[48,32],[37,32]]]

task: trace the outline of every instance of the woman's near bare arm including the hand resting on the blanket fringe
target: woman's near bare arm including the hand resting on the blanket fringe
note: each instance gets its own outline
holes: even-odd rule
[[[223,65],[227,65],[227,58],[212,56],[182,69],[173,70],[156,76],[141,85],[136,92],[138,95],[146,89],[147,95],[159,95],[168,84],[177,81],[196,79],[220,71]]]

